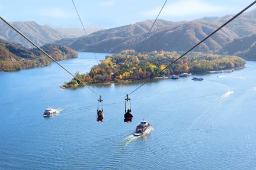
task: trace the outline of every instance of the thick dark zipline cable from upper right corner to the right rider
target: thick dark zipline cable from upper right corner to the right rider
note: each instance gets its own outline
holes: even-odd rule
[[[171,64],[169,64],[167,67],[165,67],[164,69],[162,69],[161,71],[159,71],[158,73],[155,73],[153,75],[153,77],[149,78],[148,80],[146,80],[143,84],[141,84],[139,87],[137,87],[135,90],[133,90],[132,92],[130,92],[128,95],[132,94],[133,92],[135,92],[136,90],[138,90],[140,87],[142,87],[144,84],[148,83],[149,81],[151,81],[153,78],[155,78],[156,76],[158,76],[158,74],[162,73],[162,71],[164,71],[166,68],[168,68],[169,66],[171,66],[172,64],[174,64],[176,61],[180,60],[180,58],[184,57],[184,55],[186,55],[187,53],[189,53],[191,50],[193,50],[194,48],[196,48],[198,45],[200,45],[202,42],[204,42],[205,40],[207,40],[209,37],[211,37],[213,34],[215,34],[217,31],[219,31],[220,29],[222,29],[223,27],[225,27],[227,24],[229,24],[229,22],[233,21],[233,19],[237,18],[239,15],[241,15],[243,12],[245,12],[248,8],[250,8],[252,5],[254,5],[256,3],[256,1],[252,2],[250,5],[248,5],[246,8],[244,8],[241,12],[239,12],[238,14],[236,14],[234,17],[232,17],[231,19],[229,19],[227,22],[225,22],[225,24],[221,25],[219,28],[217,28],[217,30],[213,31],[210,35],[208,35],[206,38],[204,38],[203,40],[201,40],[199,43],[197,43],[196,45],[194,45],[194,47],[190,48],[190,50],[188,50],[187,52],[185,52],[183,55],[181,55],[180,57],[178,57],[176,60],[172,61]]]

